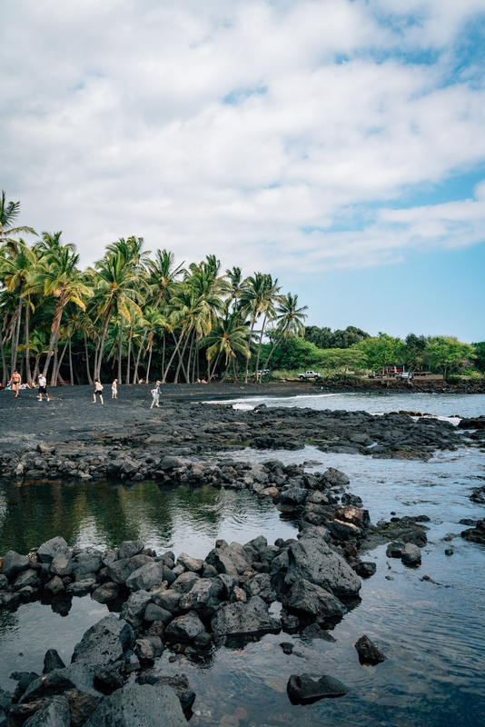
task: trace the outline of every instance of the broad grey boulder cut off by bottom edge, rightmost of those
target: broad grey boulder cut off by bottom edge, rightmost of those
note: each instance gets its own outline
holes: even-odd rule
[[[187,721],[170,687],[127,684],[101,702],[85,727],[187,727]]]

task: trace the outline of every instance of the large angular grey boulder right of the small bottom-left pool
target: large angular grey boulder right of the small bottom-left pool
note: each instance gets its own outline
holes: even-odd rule
[[[84,633],[74,647],[72,661],[89,666],[109,666],[124,659],[133,644],[132,627],[110,613]]]

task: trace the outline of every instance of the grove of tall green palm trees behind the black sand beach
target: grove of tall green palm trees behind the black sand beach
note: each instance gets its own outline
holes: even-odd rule
[[[214,255],[175,264],[130,236],[82,270],[62,233],[18,225],[19,202],[0,199],[2,383],[43,373],[57,383],[261,379],[275,347],[304,334],[306,306],[271,274],[223,272]],[[263,347],[265,337],[272,345]],[[262,351],[265,355],[262,355]],[[269,352],[269,353],[268,353]]]

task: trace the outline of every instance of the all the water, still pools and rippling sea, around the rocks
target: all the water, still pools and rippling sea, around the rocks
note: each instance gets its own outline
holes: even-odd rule
[[[386,408],[379,409],[381,396],[367,399],[366,406],[361,398],[351,400],[352,394],[339,396],[343,401],[337,400],[332,408],[419,409],[443,416],[483,413],[485,398],[447,397],[450,405],[431,396],[435,403],[431,407],[429,402],[415,403],[417,396],[430,395],[419,394],[411,401],[407,396],[401,404],[391,394],[389,406],[386,395]],[[282,401],[276,403],[281,406]],[[301,405],[309,403],[302,401]],[[328,407],[327,400],[322,408]],[[362,583],[361,604],[333,630],[336,642],[267,635],[243,649],[223,648],[213,661],[199,665],[185,657],[169,663],[170,652],[164,652],[159,666],[167,673],[187,672],[198,694],[190,723],[217,725],[224,714],[243,707],[249,723],[257,727],[483,725],[485,546],[463,541],[459,521],[485,514],[483,506],[469,499],[471,489],[484,481],[485,455],[476,449],[461,449],[439,453],[423,463],[323,454],[315,447],[305,447],[299,452],[246,450],[224,456],[251,461],[271,456],[285,463],[316,460],[322,464],[315,470],[337,467],[349,475],[351,492],[361,495],[373,522],[389,519],[391,511],[399,516],[427,514],[431,518],[427,523],[429,543],[423,549],[421,568],[415,570],[386,558],[385,546],[368,553],[366,557],[377,563],[377,573]],[[26,553],[57,533],[71,544],[100,547],[142,537],[161,552],[173,549],[203,556],[218,537],[244,543],[264,533],[272,543],[295,531],[292,523],[279,518],[272,503],[248,492],[213,488],[161,491],[153,483],[132,488],[105,483],[0,485],[0,552],[15,547]],[[442,541],[448,533],[455,537]],[[444,550],[450,546],[454,554],[448,557]],[[423,575],[436,583],[421,581]],[[40,670],[49,647],[57,648],[68,660],[74,643],[103,612],[106,607],[89,596],[74,599],[67,616],[38,603],[25,605],[14,614],[4,612],[0,615],[0,686],[12,687],[14,682],[7,676],[14,669]],[[363,633],[381,646],[388,656],[386,662],[361,666],[353,644]],[[282,641],[293,642],[296,653],[285,656],[279,646]],[[302,672],[332,674],[351,692],[338,700],[292,706],[286,682],[291,673]]]

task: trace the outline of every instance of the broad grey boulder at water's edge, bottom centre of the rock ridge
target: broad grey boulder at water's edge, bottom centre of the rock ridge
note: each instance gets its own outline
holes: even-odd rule
[[[268,612],[268,606],[259,596],[247,603],[228,603],[215,613],[211,627],[215,635],[243,635],[279,631],[281,622]]]

